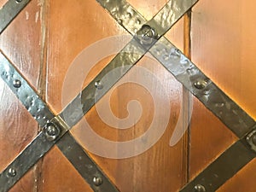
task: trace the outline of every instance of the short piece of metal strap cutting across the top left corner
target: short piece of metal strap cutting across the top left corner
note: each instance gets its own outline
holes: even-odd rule
[[[3,5],[0,9],[0,34],[29,2],[30,0],[9,0]]]

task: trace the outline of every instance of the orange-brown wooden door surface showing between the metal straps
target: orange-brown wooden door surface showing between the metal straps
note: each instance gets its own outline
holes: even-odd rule
[[[1,0],[0,5],[6,2]],[[128,2],[150,20],[168,1]],[[256,28],[256,17],[253,5],[253,0],[235,3],[230,0],[200,0],[191,12],[178,20],[166,33],[166,38],[255,119],[256,90],[253,89],[253,84],[256,64],[253,50],[256,43],[253,41],[253,30]],[[1,34],[0,49],[38,90],[50,108],[55,113],[60,113],[80,89],[89,84],[117,54],[102,56],[100,61],[86,71],[88,76],[79,85],[75,83],[76,73],[72,73],[74,79],[64,91],[65,80],[70,79],[70,67],[75,65],[74,62],[83,51],[106,41],[113,43],[111,37],[119,39],[119,46],[125,46],[129,35],[95,0],[32,0]],[[108,44],[104,48],[113,49],[114,46],[117,45]],[[104,50],[93,51],[98,55]],[[90,57],[88,61],[84,61],[84,65],[90,65],[89,61]],[[152,61],[148,55],[137,62],[137,67],[154,74],[148,79],[155,79],[147,84],[150,89],[137,83],[141,80],[142,73],[137,73],[140,72],[139,69],[132,68],[121,79],[123,84],[113,87],[111,94],[104,96],[84,116],[84,121],[88,124],[79,122],[73,127],[72,134],[121,192],[178,191],[235,143],[237,138],[159,62]],[[79,76],[79,72],[77,75]],[[3,171],[37,136],[39,127],[2,79],[0,84],[0,170]],[[164,108],[160,114],[155,114],[155,99],[160,104],[166,104],[167,101],[168,110]],[[106,103],[109,103],[112,113],[119,119],[125,119],[132,113],[139,114],[137,111],[129,111],[132,100],[140,103],[142,113],[138,120],[134,117],[135,123],[126,127],[127,129],[118,129],[119,121],[109,124],[102,120],[101,114],[104,113]],[[192,111],[189,110],[191,104]],[[138,110],[137,107],[132,109]],[[93,153],[88,149],[90,146],[86,146],[86,126],[110,141],[132,141],[148,131],[155,115],[163,117],[166,111],[169,113],[164,133],[152,147],[142,153],[122,156],[123,148],[116,145],[113,150],[119,156],[109,158],[108,154],[112,151],[108,148],[108,143],[100,146],[102,155]],[[162,121],[157,122],[157,126],[161,127]],[[177,123],[180,125],[179,129],[187,131],[177,143],[170,146]],[[145,141],[147,142],[150,141]],[[136,147],[131,143],[131,148]],[[255,171],[256,162],[253,160],[218,191],[254,192]],[[61,151],[54,147],[10,191],[89,192],[92,189]]]

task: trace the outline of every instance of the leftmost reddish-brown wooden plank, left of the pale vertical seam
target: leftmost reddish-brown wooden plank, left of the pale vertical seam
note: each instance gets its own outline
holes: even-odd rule
[[[35,89],[41,64],[40,9],[39,1],[33,0],[0,37],[0,49]],[[38,124],[2,79],[0,84],[0,170],[3,171],[36,136]],[[34,191],[34,177],[32,170],[10,191]]]

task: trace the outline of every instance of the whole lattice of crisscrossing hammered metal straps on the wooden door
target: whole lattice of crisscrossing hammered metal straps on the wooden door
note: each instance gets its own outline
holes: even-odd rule
[[[1,173],[0,183],[4,183],[4,187],[0,191],[7,191],[11,188],[55,144],[76,167],[82,177],[90,183],[92,189],[95,191],[118,191],[99,167],[90,160],[88,154],[75,142],[68,131],[147,52],[154,55],[156,60],[160,61],[179,82],[221,119],[237,137],[241,138],[181,190],[183,192],[193,190],[215,191],[236,173],[226,171],[233,170],[229,160],[237,152],[242,154],[242,158],[236,158],[236,162],[232,164],[232,166],[236,166],[236,171],[254,158],[255,154],[251,148],[255,148],[253,142],[255,121],[226,96],[222,90],[219,90],[216,84],[213,84],[180,50],[162,37],[197,0],[171,0],[149,21],[145,20],[125,0],[97,0],[97,2],[107,9],[110,15],[121,26],[124,26],[134,38],[59,115],[50,111],[47,104],[39,98],[35,90],[32,90],[10,61],[3,54],[0,55],[2,79],[9,85],[32,116],[37,119],[38,124],[43,127],[38,137]],[[6,3],[0,11],[0,20],[3,18],[2,25],[0,24],[0,32],[3,32],[3,29],[25,7],[26,3],[29,3],[29,0],[9,0]],[[131,54],[131,49],[136,52],[136,55]],[[113,79],[109,79],[108,82],[101,82],[106,73],[118,67],[121,70],[115,73]],[[103,84],[104,91],[101,96],[97,96],[97,99],[95,99],[99,83]],[[216,105],[216,103],[224,104]],[[81,104],[82,109],[78,113],[74,109],[80,107]],[[69,118],[73,117],[73,113],[76,114],[76,118]],[[78,156],[83,158],[78,158]],[[20,165],[20,162],[26,160],[27,157],[30,157],[31,160],[27,161],[26,165]],[[93,168],[88,169],[86,165],[91,165]],[[218,169],[218,166],[226,166],[226,169],[223,171]],[[216,177],[216,175],[219,177]]]

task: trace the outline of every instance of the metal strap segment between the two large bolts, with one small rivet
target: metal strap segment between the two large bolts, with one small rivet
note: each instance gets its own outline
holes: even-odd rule
[[[67,105],[67,108],[61,112],[61,118],[64,119],[70,127],[76,125],[84,114],[87,113],[90,108],[108,92],[113,84],[123,77],[145,53],[146,51],[140,44],[132,39],[130,44],[127,44],[125,48],[113,58],[108,66],[103,68],[102,72],[76,96],[73,102]],[[111,79],[106,79],[106,81],[101,82],[101,79],[110,72],[112,72]],[[96,92],[96,84],[99,84],[99,82],[101,82],[101,91]]]

